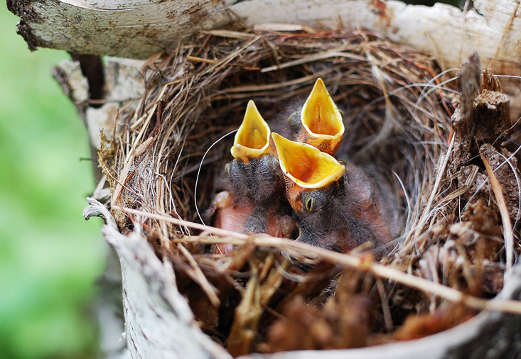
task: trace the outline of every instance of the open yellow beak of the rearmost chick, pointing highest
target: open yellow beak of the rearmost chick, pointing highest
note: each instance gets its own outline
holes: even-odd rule
[[[340,111],[322,79],[317,79],[302,106],[301,121],[307,136],[302,142],[334,155],[344,133]]]

